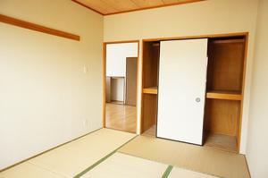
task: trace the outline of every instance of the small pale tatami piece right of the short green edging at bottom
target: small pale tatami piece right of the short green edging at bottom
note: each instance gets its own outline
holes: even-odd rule
[[[169,178],[217,178],[213,175],[201,174],[180,167],[173,167],[172,172],[168,176]]]

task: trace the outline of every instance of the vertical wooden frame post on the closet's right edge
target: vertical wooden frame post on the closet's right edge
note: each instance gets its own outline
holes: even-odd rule
[[[240,116],[239,116],[239,128],[238,128],[238,152],[240,152],[240,142],[241,142],[241,129],[242,129],[242,117],[243,117],[243,107],[244,107],[244,91],[246,83],[246,70],[247,70],[247,47],[248,47],[248,32],[245,34],[245,46],[244,46],[244,69],[243,69],[243,79],[242,79],[242,100],[240,103]]]

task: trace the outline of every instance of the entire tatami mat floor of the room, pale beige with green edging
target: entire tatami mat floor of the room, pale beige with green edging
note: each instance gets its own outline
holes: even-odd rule
[[[131,140],[134,137],[128,132],[101,129],[16,165],[0,173],[0,178],[64,178],[82,172],[83,177],[96,178],[161,177],[168,165],[174,166],[169,177],[249,177],[242,155],[153,137]],[[114,153],[117,148],[121,153]],[[96,165],[99,160],[102,162]]]

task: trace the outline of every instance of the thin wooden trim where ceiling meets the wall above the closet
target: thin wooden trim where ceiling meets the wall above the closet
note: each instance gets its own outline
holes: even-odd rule
[[[105,13],[104,15],[114,15],[114,14],[119,14],[119,13],[131,13],[131,12],[136,12],[136,11],[143,11],[147,9],[155,9],[155,8],[161,8],[161,7],[166,7],[166,6],[172,6],[172,5],[180,5],[180,4],[190,4],[190,3],[197,3],[205,0],[188,0],[187,2],[178,2],[178,3],[173,3],[173,4],[161,4],[161,5],[155,5],[155,6],[149,6],[149,7],[142,7],[138,9],[131,9],[128,11],[121,11],[121,12],[115,12],[115,13]]]

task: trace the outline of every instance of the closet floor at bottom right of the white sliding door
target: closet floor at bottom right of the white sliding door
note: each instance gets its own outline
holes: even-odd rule
[[[217,148],[224,151],[237,153],[237,145],[236,137],[215,133],[205,134],[205,147]]]

